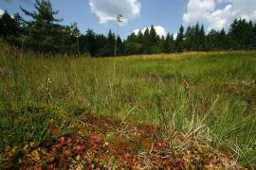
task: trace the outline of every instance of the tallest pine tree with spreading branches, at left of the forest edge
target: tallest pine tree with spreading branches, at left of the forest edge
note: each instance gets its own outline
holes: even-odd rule
[[[44,52],[74,51],[74,49],[70,49],[70,41],[68,40],[71,37],[66,37],[70,36],[68,35],[70,27],[60,26],[58,24],[62,19],[55,18],[55,15],[59,11],[53,10],[50,1],[36,0],[34,8],[36,10],[31,12],[25,8],[21,8],[32,19],[31,21],[24,21],[27,25],[28,32],[27,46],[32,47],[34,50]]]

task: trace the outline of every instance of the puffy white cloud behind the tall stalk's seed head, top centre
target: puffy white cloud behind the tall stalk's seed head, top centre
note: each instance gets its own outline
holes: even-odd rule
[[[141,5],[138,0],[90,0],[91,11],[95,13],[101,24],[116,21],[118,14],[123,16],[123,24],[139,16]]]

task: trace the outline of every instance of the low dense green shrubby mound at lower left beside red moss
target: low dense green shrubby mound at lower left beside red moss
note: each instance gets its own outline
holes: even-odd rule
[[[69,115],[64,110],[35,103],[2,103],[0,149],[6,146],[44,144],[69,134]]]

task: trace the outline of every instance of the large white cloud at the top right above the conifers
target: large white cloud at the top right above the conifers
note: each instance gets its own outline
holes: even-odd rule
[[[225,7],[217,8],[218,5]],[[189,0],[183,24],[189,26],[199,22],[207,26],[208,31],[212,28],[220,30],[229,28],[235,18],[255,22],[256,0]]]

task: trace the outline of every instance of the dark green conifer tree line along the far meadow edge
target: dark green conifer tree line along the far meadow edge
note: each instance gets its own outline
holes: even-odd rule
[[[210,30],[206,33],[203,25],[180,26],[177,36],[168,33],[159,37],[154,26],[131,33],[122,41],[109,30],[105,36],[88,29],[82,34],[76,23],[71,26],[60,24],[62,19],[55,17],[58,10],[53,10],[49,0],[36,0],[35,10],[22,11],[31,19],[26,21],[19,13],[11,16],[5,11],[0,18],[0,37],[24,50],[43,53],[90,54],[92,57],[114,56],[117,54],[158,54],[185,51],[213,50],[253,50],[256,49],[256,24],[245,19],[236,19],[224,29]]]

